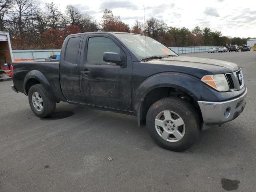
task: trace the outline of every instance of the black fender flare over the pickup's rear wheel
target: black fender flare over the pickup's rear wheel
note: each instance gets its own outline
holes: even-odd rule
[[[44,86],[46,86],[46,88],[50,89],[50,83],[47,80],[47,78],[44,76],[44,74],[42,74],[42,72],[38,71],[38,70],[31,70],[30,72],[28,72],[24,78],[24,83],[23,83],[23,90],[24,90],[24,94],[28,95],[28,93],[26,92],[26,84],[28,83],[28,81],[30,79],[36,79],[38,80],[41,84],[43,84]],[[50,89],[51,90],[51,89]],[[52,90],[51,90],[52,91]]]

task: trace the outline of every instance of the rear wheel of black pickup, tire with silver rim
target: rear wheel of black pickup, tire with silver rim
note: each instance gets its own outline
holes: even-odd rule
[[[28,102],[34,114],[40,118],[50,116],[56,107],[52,95],[42,84],[31,86],[28,91]]]

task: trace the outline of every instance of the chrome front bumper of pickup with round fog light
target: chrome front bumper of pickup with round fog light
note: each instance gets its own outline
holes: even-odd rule
[[[244,110],[246,94],[247,88],[241,96],[232,100],[223,102],[198,101],[204,121],[203,130],[237,118]]]

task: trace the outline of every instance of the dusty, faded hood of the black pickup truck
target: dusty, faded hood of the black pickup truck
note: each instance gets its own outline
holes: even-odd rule
[[[202,78],[204,75],[231,73],[240,69],[237,64],[222,60],[177,56],[168,57],[158,60],[151,60],[148,63],[169,65],[170,68],[165,68],[166,71],[182,72]]]

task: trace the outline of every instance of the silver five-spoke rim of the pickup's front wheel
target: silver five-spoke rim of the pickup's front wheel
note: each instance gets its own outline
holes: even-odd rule
[[[173,111],[162,111],[155,118],[156,132],[168,142],[178,142],[185,135],[183,119]]]

